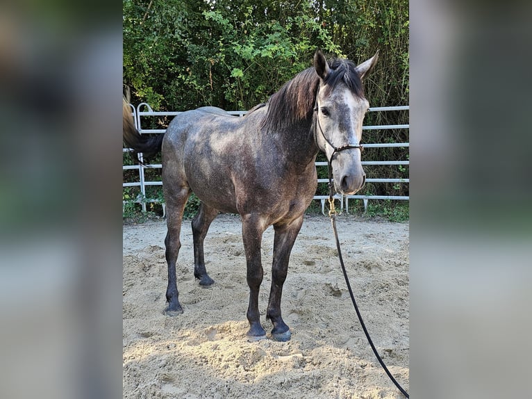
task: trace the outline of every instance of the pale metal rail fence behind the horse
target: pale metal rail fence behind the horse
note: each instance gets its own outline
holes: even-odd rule
[[[153,117],[153,116],[167,116],[173,117],[180,114],[183,111],[153,111],[151,106],[147,103],[141,103],[135,108],[131,106],[131,115],[133,115],[133,120],[135,121],[135,127],[138,131],[142,133],[165,133],[166,129],[142,129],[141,117]],[[147,108],[148,111],[141,111],[142,108]],[[410,111],[410,106],[383,106],[383,107],[372,107],[369,108],[369,112],[381,112],[381,111]],[[242,117],[246,115],[247,111],[227,111],[230,115],[235,115]],[[390,130],[390,129],[410,129],[410,124],[385,124],[385,125],[372,125],[372,126],[363,126],[363,130]],[[390,142],[390,143],[368,143],[364,144],[365,149],[369,148],[387,148],[387,147],[410,147],[409,142]],[[124,148],[123,152],[131,151],[131,149]],[[139,159],[142,161],[142,154],[139,154]],[[315,163],[316,167],[327,166],[327,163],[324,161],[317,161]],[[362,161],[362,165],[410,165],[410,161]],[[151,169],[160,169],[163,167],[160,163],[150,164]],[[122,187],[140,187],[140,195],[136,199],[133,199],[134,202],[138,202],[142,205],[142,211],[146,211],[146,204],[160,203],[163,206],[163,215],[166,213],[166,207],[164,202],[160,199],[153,199],[146,197],[146,187],[147,186],[162,186],[162,181],[146,181],[144,168],[140,165],[124,165],[122,170],[138,170],[139,179],[138,181],[133,182],[124,182]],[[409,184],[410,179],[366,179],[367,183],[395,183],[395,184]],[[329,179],[317,179],[318,184],[329,183]],[[315,195],[313,199],[319,199],[322,204],[322,213],[325,213],[325,202],[329,198],[329,195]],[[367,210],[367,204],[370,199],[394,199],[394,200],[409,200],[409,196],[404,195],[335,195],[335,199],[340,202],[340,209],[343,211],[344,204],[346,211],[349,210],[349,199],[362,199],[364,203],[364,209]],[[125,201],[124,201],[125,204]]]

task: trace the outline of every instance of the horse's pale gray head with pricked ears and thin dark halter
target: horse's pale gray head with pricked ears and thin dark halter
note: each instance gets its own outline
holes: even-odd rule
[[[369,103],[362,79],[377,57],[378,52],[356,66],[349,60],[333,60],[329,65],[321,51],[314,56],[320,80],[314,108],[315,140],[331,164],[335,190],[344,195],[356,193],[365,184],[360,142]]]

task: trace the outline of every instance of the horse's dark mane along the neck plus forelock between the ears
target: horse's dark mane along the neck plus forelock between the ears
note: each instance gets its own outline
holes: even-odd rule
[[[364,88],[356,65],[345,59],[333,58],[329,60],[331,73],[324,81],[324,89],[329,93],[338,82],[344,82],[349,90],[358,98],[364,97]],[[268,111],[263,120],[263,129],[266,131],[278,131],[310,119],[313,113],[314,102],[319,85],[314,67],[300,72],[294,79],[269,98]]]

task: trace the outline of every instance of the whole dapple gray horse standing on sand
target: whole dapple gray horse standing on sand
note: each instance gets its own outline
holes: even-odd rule
[[[319,151],[326,154],[338,193],[350,195],[363,187],[360,140],[369,104],[362,79],[374,67],[377,56],[357,66],[344,59],[327,62],[317,51],[314,67],[297,74],[267,104],[256,106],[244,117],[233,117],[215,107],[198,108],[177,115],[164,136],[155,138],[140,136],[134,127],[124,124],[124,142],[134,153],[142,152],[149,158],[162,149],[168,227],[165,314],[183,312],[176,261],[183,210],[194,193],[201,200],[192,220],[194,276],[199,284],[214,282],[203,258],[210,223],[220,212],[238,213],[242,218],[249,285],[247,336],[251,341],[266,338],[258,311],[263,281],[260,244],[265,229],[274,226],[272,288],[266,318],[272,320],[274,340],[290,339],[290,328],[281,317],[281,295],[292,246],[316,192],[316,156]]]

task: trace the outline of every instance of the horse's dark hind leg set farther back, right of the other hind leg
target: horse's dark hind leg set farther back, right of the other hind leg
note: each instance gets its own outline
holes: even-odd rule
[[[203,256],[203,241],[209,229],[210,223],[215,220],[219,211],[201,202],[199,211],[192,220],[192,236],[194,237],[194,277],[199,279],[199,285],[210,286],[214,280],[207,274],[205,257]]]

